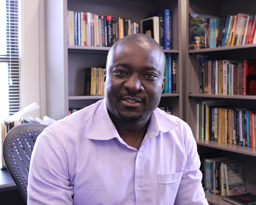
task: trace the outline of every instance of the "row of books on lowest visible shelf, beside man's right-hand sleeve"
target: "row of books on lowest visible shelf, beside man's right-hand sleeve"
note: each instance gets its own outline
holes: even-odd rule
[[[246,192],[242,163],[223,157],[222,154],[201,153],[199,156],[202,183],[207,192],[222,196]]]

